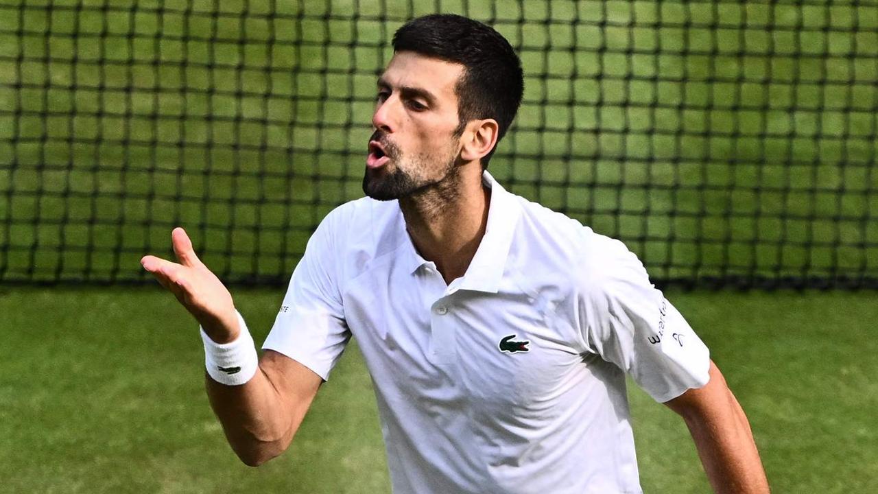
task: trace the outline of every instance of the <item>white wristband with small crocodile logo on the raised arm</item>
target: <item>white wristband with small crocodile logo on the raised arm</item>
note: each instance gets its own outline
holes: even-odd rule
[[[247,330],[247,324],[241,313],[235,311],[241,333],[230,343],[219,344],[207,336],[204,328],[201,339],[205,343],[205,368],[213,381],[227,386],[238,386],[246,383],[256,374],[259,368],[259,357],[253,343],[253,337]]]

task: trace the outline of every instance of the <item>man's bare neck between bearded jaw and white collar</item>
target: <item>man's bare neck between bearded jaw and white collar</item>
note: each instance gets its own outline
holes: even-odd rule
[[[414,247],[433,261],[446,284],[464,275],[485,236],[491,189],[482,185],[481,176],[480,166],[462,170],[399,200]]]

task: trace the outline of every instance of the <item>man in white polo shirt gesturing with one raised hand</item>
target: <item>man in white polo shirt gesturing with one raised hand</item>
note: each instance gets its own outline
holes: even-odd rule
[[[314,232],[258,366],[182,229],[180,264],[142,260],[201,323],[208,396],[241,460],[290,445],[354,335],[396,492],[640,492],[625,373],[685,419],[717,492],[767,492],[743,410],[637,258],[485,171],[522,98],[507,40],[435,15],[393,47],[369,198]]]

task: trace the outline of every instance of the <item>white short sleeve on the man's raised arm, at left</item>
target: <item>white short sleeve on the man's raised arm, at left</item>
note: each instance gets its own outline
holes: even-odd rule
[[[350,339],[337,279],[337,214],[328,214],[308,240],[263,350],[283,353],[326,381]]]

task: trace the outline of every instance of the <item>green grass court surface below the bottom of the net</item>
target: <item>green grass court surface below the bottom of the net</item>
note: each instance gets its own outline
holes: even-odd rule
[[[236,290],[261,344],[283,296]],[[725,370],[773,491],[878,490],[871,293],[671,293]],[[239,462],[203,389],[197,327],[161,287],[0,294],[0,492],[388,492],[371,381],[350,347],[283,456]],[[644,490],[709,491],[685,425],[629,391]]]

